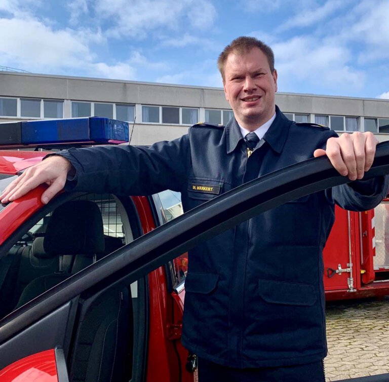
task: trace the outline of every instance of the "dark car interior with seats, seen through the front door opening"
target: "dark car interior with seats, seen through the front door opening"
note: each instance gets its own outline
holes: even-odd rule
[[[131,208],[132,207],[132,208]],[[0,259],[0,314],[42,294],[140,236],[134,207],[113,195],[66,201],[39,221]],[[144,346],[144,280],[80,298],[67,330],[69,380],[140,380],[133,375],[134,347]]]

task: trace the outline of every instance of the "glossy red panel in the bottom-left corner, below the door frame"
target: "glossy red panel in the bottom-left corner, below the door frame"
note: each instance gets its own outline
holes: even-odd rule
[[[2,382],[58,382],[54,350],[32,354],[0,370]]]

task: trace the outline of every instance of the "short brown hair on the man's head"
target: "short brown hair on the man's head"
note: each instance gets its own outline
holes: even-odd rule
[[[274,72],[273,50],[262,41],[255,39],[255,37],[241,36],[232,41],[231,44],[227,45],[217,59],[217,66],[219,67],[223,82],[225,81],[224,66],[228,55],[230,53],[244,54],[250,52],[253,48],[258,48],[264,53],[269,63],[271,73]]]

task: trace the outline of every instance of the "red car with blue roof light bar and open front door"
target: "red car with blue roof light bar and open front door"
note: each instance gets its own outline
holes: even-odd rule
[[[57,121],[44,121],[43,124],[36,121],[27,124],[28,134],[24,134],[25,123],[3,124],[8,134],[3,136],[2,144],[12,148],[26,145],[58,147],[67,141],[72,141],[72,145],[120,143],[128,136],[128,130],[122,129],[124,136],[115,134],[112,137],[108,132],[106,137],[105,132],[99,141],[96,122],[103,122],[103,126],[98,127],[104,128],[106,120],[60,121],[61,126]],[[75,123],[83,135],[69,135],[64,139],[63,125],[73,127]],[[50,131],[48,138],[47,131],[40,136],[32,135],[36,130],[34,127],[42,128],[42,125],[43,130],[53,126],[62,130],[58,134]],[[14,128],[21,129],[22,126],[21,133],[14,133]],[[27,136],[29,141],[11,140],[21,136]],[[0,151],[0,189],[47,154]],[[57,373],[59,380],[67,380],[67,376],[61,377],[60,373],[60,365],[66,368],[67,363],[69,380],[192,381],[194,357],[180,343],[186,254],[166,260],[155,270],[139,274],[135,279],[125,276],[124,267],[115,276],[110,276],[110,281],[100,282],[98,292],[95,287],[88,288],[86,294],[73,296],[70,292],[68,297],[72,297],[61,304],[59,321],[55,320],[56,324],[51,326],[44,320],[38,329],[37,317],[30,316],[28,307],[43,312],[39,301],[45,298],[35,297],[59,283],[58,287],[65,290],[62,288],[66,283],[79,277],[82,278],[78,285],[83,288],[90,282],[93,284],[96,276],[90,272],[97,264],[107,261],[108,254],[172,217],[171,208],[167,208],[170,206],[164,208],[158,195],[63,193],[45,206],[40,201],[44,189],[45,186],[38,187],[24,198],[0,206],[0,316],[9,314],[0,328],[6,336],[0,345],[0,348],[6,347],[0,350],[0,369],[5,367],[0,371],[0,380],[52,381],[57,380]],[[166,199],[165,195],[163,200]],[[96,260],[99,261],[95,264]],[[113,265],[104,266],[105,270],[113,268]],[[76,277],[71,277],[73,275]],[[113,289],[112,282],[116,285]],[[48,294],[55,298],[60,295],[58,290],[48,292],[46,296]],[[33,298],[34,301],[27,303]],[[53,307],[47,302],[44,305]],[[16,317],[19,318],[15,321]],[[14,325],[17,321],[22,327]],[[13,328],[11,336],[20,344],[12,345],[15,352],[7,345],[10,343],[7,327]],[[56,346],[50,339],[52,334]],[[23,358],[25,356],[27,358]],[[15,360],[18,361],[13,363]]]

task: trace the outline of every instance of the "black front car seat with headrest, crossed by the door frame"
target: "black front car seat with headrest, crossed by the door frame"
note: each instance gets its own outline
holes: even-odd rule
[[[109,240],[114,249],[123,245]],[[112,242],[112,243],[111,243]],[[121,244],[121,245],[120,245]],[[59,206],[51,216],[44,237],[44,251],[73,257],[72,269],[91,264],[104,255],[103,221],[92,201],[71,201]],[[64,271],[34,279],[23,290],[18,306],[69,277]],[[128,288],[108,289],[80,305],[79,323],[71,351],[71,382],[119,382],[129,380],[126,360],[131,352],[131,298]]]

